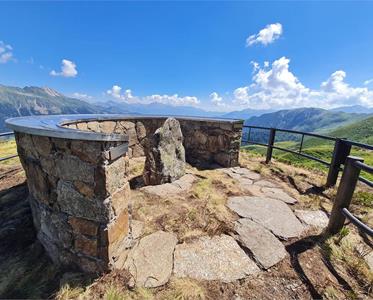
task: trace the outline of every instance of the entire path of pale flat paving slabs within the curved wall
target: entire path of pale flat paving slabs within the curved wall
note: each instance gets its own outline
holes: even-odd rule
[[[311,227],[321,229],[327,225],[328,217],[322,211],[293,211],[291,206],[297,200],[260,174],[240,167],[223,172],[247,192],[228,198],[227,207],[239,217],[231,236],[204,236],[181,244],[176,235],[163,231],[142,237],[136,240],[124,263],[133,285],[157,287],[171,276],[222,282],[255,276],[287,256],[282,240],[299,238]],[[195,180],[194,175],[187,174],[172,184],[141,190],[160,197],[182,194],[192,188]],[[140,232],[135,239],[141,234],[140,225],[135,226]]]

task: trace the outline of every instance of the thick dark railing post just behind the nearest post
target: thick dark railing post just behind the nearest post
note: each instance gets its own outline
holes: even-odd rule
[[[334,144],[332,162],[329,167],[328,179],[326,186],[334,186],[337,183],[339,169],[344,164],[347,156],[350,155],[351,145],[343,139],[337,139]]]

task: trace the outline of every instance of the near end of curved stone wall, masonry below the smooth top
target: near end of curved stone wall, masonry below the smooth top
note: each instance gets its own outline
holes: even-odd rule
[[[122,142],[16,132],[38,239],[52,260],[85,272],[110,268],[129,228],[128,157],[109,159]]]

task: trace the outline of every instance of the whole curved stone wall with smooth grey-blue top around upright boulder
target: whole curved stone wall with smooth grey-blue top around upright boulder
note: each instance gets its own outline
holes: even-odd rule
[[[8,119],[25,169],[38,239],[55,263],[102,272],[130,231],[131,157],[166,117],[110,115]],[[177,118],[195,166],[238,164],[242,122]]]

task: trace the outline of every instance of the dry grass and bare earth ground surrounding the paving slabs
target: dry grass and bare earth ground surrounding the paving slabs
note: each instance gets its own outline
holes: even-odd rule
[[[197,177],[186,195],[154,198],[138,190],[142,161],[131,165],[134,218],[145,223],[144,234],[172,231],[179,242],[203,235],[232,234],[237,216],[225,202],[242,195],[235,181],[219,170],[188,172]],[[242,153],[240,164],[276,181],[299,202],[295,208],[329,212],[335,189],[324,189],[324,174],[279,162],[265,165],[260,157]],[[36,239],[27,203],[27,187],[19,165],[0,168],[0,298],[58,299],[371,299],[373,274],[362,259],[372,240],[351,224],[332,238],[307,232],[286,242],[287,257],[258,275],[234,283],[172,278],[156,289],[133,289],[125,271],[99,277],[69,273],[53,266]],[[351,207],[371,221],[372,209]],[[68,285],[67,285],[68,284]]]

